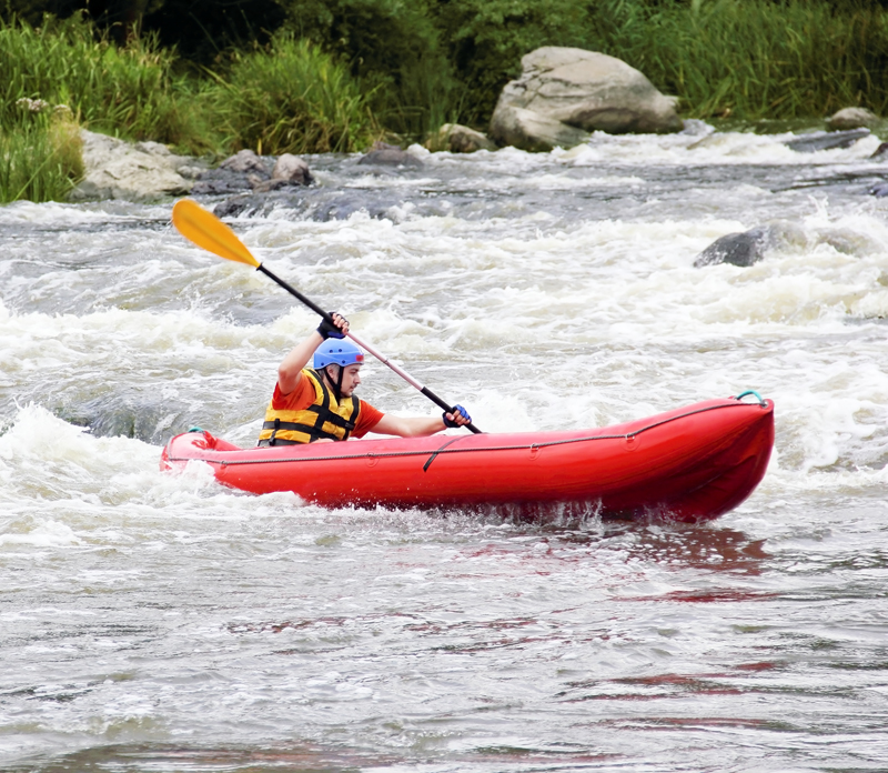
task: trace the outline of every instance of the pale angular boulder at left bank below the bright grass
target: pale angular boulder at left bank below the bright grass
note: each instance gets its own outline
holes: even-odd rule
[[[84,175],[71,201],[125,199],[155,201],[191,190],[204,170],[195,159],[176,155],[159,142],[125,142],[83,130]]]

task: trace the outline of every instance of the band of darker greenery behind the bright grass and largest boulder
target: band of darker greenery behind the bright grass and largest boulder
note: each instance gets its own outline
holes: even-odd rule
[[[0,0],[1,16],[31,24],[85,11],[119,42],[151,32],[222,78],[236,60],[222,53],[275,34],[307,39],[359,79],[380,126],[411,138],[445,121],[486,128],[522,57],[542,46],[622,58],[700,114],[795,116],[836,100],[881,110],[885,9],[888,0]],[[810,41],[821,48],[813,53]]]

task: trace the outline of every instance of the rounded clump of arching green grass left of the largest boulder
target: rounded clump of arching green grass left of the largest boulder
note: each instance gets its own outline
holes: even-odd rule
[[[379,135],[367,94],[347,69],[292,34],[235,53],[210,100],[229,141],[260,153],[347,152]]]

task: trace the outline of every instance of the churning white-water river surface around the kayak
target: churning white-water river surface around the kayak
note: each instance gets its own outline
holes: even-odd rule
[[[0,769],[888,769],[888,164],[707,131],[310,157],[304,205],[231,221],[487,432],[773,399],[763,483],[703,525],[161,473],[193,424],[253,444],[316,320],[172,202],[0,208]],[[759,263],[694,268],[771,221]]]

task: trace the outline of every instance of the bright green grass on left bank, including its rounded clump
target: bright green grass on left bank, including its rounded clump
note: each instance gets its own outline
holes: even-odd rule
[[[63,199],[82,175],[79,126],[220,155],[354,151],[380,135],[347,69],[292,36],[235,52],[224,76],[175,63],[151,37],[120,48],[80,17],[0,22],[0,203]]]

